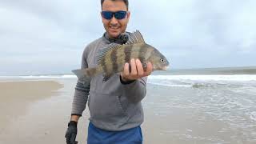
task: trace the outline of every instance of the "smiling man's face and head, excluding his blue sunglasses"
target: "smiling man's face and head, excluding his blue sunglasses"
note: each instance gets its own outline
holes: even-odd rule
[[[125,2],[123,1],[111,1],[105,0],[102,4],[102,11],[127,11]],[[126,18],[117,19],[113,16],[111,19],[106,19],[102,17],[103,26],[106,32],[109,34],[110,38],[117,38],[119,34],[126,31],[127,23],[129,22],[130,12],[127,11]]]

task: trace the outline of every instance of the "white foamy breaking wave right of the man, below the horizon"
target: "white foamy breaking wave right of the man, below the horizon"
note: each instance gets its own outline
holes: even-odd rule
[[[255,75],[151,75],[148,82],[172,87],[241,87],[256,86]]]

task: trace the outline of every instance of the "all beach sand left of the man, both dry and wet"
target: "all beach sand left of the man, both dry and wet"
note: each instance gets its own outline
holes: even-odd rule
[[[21,82],[23,81],[23,82]],[[0,82],[0,144],[64,144],[76,79]],[[89,112],[78,123],[86,143]]]

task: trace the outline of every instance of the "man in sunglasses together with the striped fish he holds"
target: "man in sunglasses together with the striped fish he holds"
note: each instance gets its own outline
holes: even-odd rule
[[[66,143],[74,144],[78,119],[88,107],[90,123],[87,143],[142,143],[144,119],[142,99],[147,76],[166,70],[169,62],[142,34],[126,32],[130,19],[128,0],[101,0],[102,23],[106,30],[86,46],[78,76]]]

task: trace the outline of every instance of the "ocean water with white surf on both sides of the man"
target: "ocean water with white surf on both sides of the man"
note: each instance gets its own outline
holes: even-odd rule
[[[73,74],[0,76],[1,81]],[[167,70],[148,78],[145,143],[256,143],[256,67]]]

